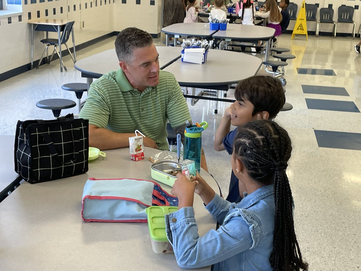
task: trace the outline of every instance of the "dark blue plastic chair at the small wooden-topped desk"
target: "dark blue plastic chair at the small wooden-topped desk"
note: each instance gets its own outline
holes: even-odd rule
[[[75,23],[75,21],[71,21],[71,22],[68,22],[68,23],[65,24],[64,30],[63,30],[63,32],[61,33],[60,44],[65,44],[65,47],[66,47],[66,49],[68,49],[69,54],[70,54],[70,56],[71,56],[71,59],[72,59],[73,62],[75,63],[75,58],[73,57],[73,54],[70,52],[69,47],[68,47],[68,45],[66,44],[66,42],[68,42],[68,40],[69,40],[69,37],[70,37],[70,34],[71,34],[71,30],[73,29],[74,23]],[[36,67],[36,69],[39,68],[39,65],[40,65],[40,63],[41,63],[41,61],[42,61],[42,59],[43,59],[43,56],[44,56],[45,51],[48,50],[48,47],[49,47],[49,46],[53,45],[53,46],[54,46],[54,51],[53,51],[53,53],[51,54],[50,59],[47,60],[48,64],[50,64],[51,60],[53,59],[54,53],[56,52],[57,55],[58,55],[58,57],[59,57],[59,59],[60,59],[61,64],[63,65],[63,67],[64,67],[64,69],[65,69],[65,71],[67,71],[67,69],[66,69],[66,67],[65,67],[65,65],[64,65],[64,63],[63,63],[63,60],[61,59],[61,56],[60,56],[58,50],[56,49],[56,47],[57,47],[58,44],[59,44],[59,40],[58,40],[58,39],[42,39],[42,40],[40,40],[40,42],[46,44],[46,46],[45,46],[45,49],[44,49],[44,52],[43,52],[42,56],[40,57],[40,60],[39,60],[39,63],[38,63],[38,66]],[[75,56],[75,52],[74,52],[74,56]]]

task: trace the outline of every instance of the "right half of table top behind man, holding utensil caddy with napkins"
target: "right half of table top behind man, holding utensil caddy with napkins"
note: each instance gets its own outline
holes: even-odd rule
[[[180,85],[216,86],[238,83],[255,75],[261,65],[262,60],[256,56],[210,49],[204,64],[187,63],[178,59],[164,70],[173,73]],[[236,66],[239,69],[230,68]]]

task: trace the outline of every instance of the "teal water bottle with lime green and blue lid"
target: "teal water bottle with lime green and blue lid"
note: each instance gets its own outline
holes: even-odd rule
[[[198,172],[201,170],[201,147],[202,132],[207,129],[208,123],[203,121],[200,124],[187,127],[184,131],[183,160],[189,159],[195,162]]]

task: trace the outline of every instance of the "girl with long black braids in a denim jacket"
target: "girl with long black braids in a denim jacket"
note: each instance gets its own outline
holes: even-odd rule
[[[182,268],[214,264],[214,270],[308,270],[296,239],[286,175],[290,137],[269,120],[248,122],[238,130],[231,164],[246,187],[241,202],[225,201],[198,174],[193,181],[177,175],[171,193],[178,197],[178,211],[165,217],[177,263]],[[194,193],[221,225],[201,237]]]

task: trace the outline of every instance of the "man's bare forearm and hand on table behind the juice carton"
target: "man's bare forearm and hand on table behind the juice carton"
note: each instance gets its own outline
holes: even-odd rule
[[[89,146],[96,147],[99,150],[129,147],[129,137],[134,136],[135,133],[116,133],[89,124]],[[145,147],[158,149],[156,142],[149,137],[143,137],[143,142]]]

